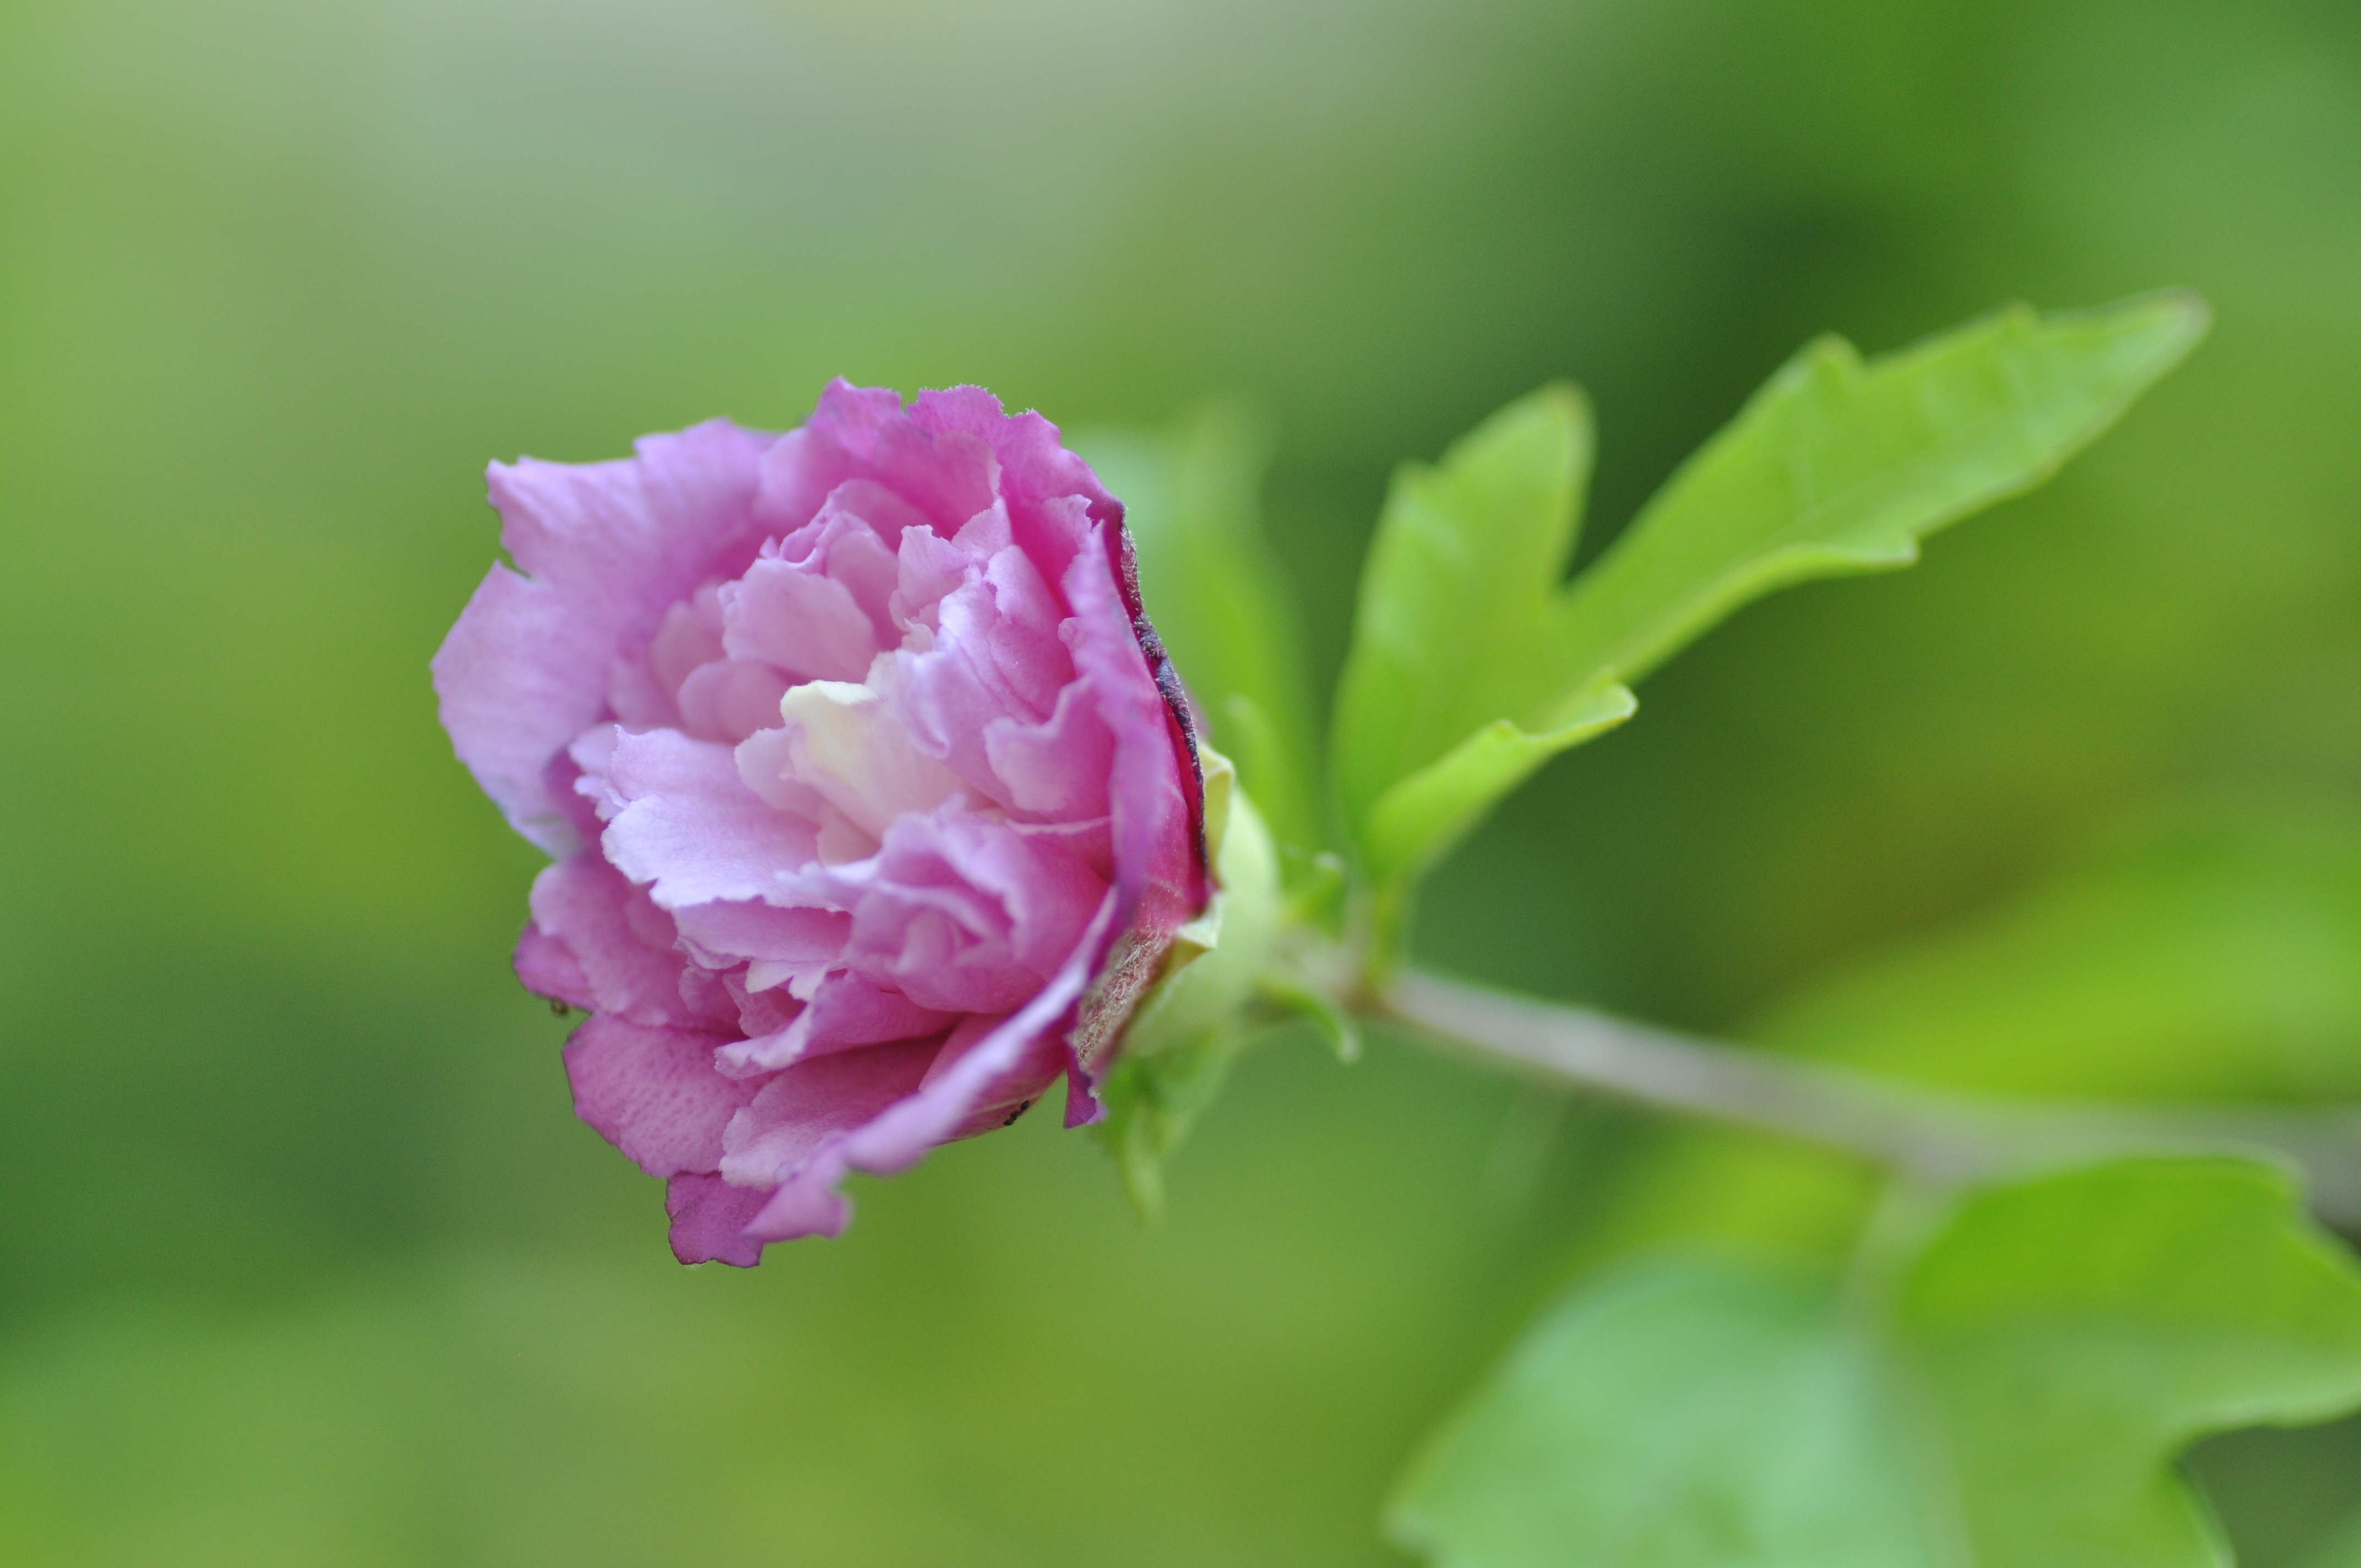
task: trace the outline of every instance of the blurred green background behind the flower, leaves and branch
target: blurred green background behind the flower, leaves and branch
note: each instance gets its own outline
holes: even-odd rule
[[[1544,378],[1594,550],[1813,331],[2205,290],[2061,482],[1750,609],[1428,900],[1742,1030],[2127,815],[2349,812],[2356,281],[2347,0],[9,0],[0,1561],[1402,1561],[1646,1138],[1287,1037],[1162,1230],[1032,1119],[680,1270],[434,725],[486,458],[1247,392],[1329,675],[1391,465]],[[2222,1452],[2262,1568],[2361,1497],[2349,1429]]]

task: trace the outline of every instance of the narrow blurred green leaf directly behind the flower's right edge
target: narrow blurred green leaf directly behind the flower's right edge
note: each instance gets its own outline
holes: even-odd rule
[[[1140,597],[1214,744],[1237,760],[1280,843],[1320,848],[1301,616],[1261,531],[1270,439],[1237,404],[1166,435],[1074,439],[1124,501]]]

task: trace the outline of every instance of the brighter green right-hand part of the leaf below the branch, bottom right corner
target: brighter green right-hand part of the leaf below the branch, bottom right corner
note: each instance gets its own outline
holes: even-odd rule
[[[2222,1563],[2170,1459],[2361,1403],[2361,1273],[2295,1181],[2132,1159],[1967,1204],[1898,1327],[1941,1410],[1974,1561]]]

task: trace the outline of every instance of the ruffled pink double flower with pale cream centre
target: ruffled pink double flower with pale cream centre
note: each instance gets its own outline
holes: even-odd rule
[[[673,1252],[833,1235],[845,1171],[1067,1124],[1206,902],[1202,779],[1124,508],[980,387],[833,383],[616,463],[491,468],[434,656],[458,756],[557,857],[517,945],[588,1008],[574,1108]]]

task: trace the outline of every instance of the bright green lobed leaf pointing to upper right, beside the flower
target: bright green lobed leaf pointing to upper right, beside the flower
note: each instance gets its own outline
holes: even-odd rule
[[[1622,685],[1773,588],[1917,560],[2023,491],[2203,335],[2191,295],[2004,309],[1870,364],[1809,345],[1561,588],[1591,437],[1546,387],[1440,468],[1405,468],[1362,576],[1336,793],[1372,883],[1414,878],[1556,751],[1629,716]]]

